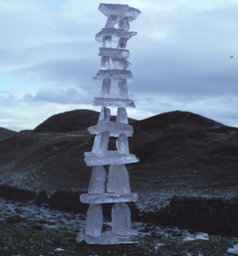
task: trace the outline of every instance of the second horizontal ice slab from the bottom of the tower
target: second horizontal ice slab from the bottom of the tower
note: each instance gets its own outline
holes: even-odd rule
[[[81,194],[80,201],[85,204],[106,204],[106,203],[121,203],[121,202],[136,202],[138,199],[137,193],[116,194]]]

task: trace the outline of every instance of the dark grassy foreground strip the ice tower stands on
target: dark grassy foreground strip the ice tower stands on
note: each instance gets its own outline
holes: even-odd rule
[[[77,234],[22,234],[1,236],[0,254],[4,256],[229,256],[238,238],[209,236],[209,240],[185,241],[183,238],[140,237],[139,243],[126,245],[87,245],[76,242]],[[229,249],[230,248],[230,249]]]

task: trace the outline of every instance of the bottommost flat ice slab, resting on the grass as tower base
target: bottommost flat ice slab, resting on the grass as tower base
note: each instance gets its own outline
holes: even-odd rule
[[[93,237],[87,234],[79,234],[76,238],[77,242],[84,240],[87,244],[93,245],[116,245],[116,244],[132,244],[138,243],[139,240],[135,236],[117,235],[113,233],[102,233],[101,236]]]

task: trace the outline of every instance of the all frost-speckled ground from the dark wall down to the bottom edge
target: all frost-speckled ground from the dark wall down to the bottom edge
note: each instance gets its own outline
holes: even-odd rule
[[[85,215],[0,199],[0,255],[228,256],[238,249],[238,238],[209,235],[207,240],[206,233],[143,222],[131,223],[132,235],[140,237],[138,244],[92,247],[75,240],[85,222]],[[110,232],[110,224],[104,222],[105,232]],[[184,237],[195,239],[185,242]]]

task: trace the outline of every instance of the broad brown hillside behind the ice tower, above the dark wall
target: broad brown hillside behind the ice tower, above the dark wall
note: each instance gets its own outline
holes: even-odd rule
[[[82,113],[85,118],[79,118]],[[91,151],[95,136],[87,128],[97,123],[99,113],[62,114],[66,121],[56,115],[60,130],[51,120],[51,126],[42,126],[51,133],[19,133],[0,141],[0,184],[87,191],[91,167],[84,152]],[[70,127],[82,131],[69,132]],[[174,111],[134,122],[133,129],[129,150],[140,162],[126,166],[140,208],[159,208],[173,195],[238,198],[238,128]],[[115,143],[111,137],[109,150],[116,149]]]

